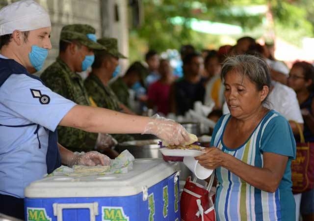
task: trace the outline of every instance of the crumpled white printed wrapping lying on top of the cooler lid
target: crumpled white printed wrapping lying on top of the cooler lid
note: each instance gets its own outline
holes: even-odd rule
[[[123,151],[116,159],[111,160],[110,166],[82,166],[74,165],[72,168],[68,166],[60,166],[47,176],[91,176],[106,175],[116,173],[127,173],[133,168],[134,156],[128,151]]]

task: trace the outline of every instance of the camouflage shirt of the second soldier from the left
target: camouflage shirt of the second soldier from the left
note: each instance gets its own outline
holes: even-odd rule
[[[98,107],[121,111],[118,97],[112,89],[109,86],[105,86],[96,75],[90,74],[86,78],[84,86]],[[112,134],[112,137],[118,142],[133,140],[133,137],[128,134]]]

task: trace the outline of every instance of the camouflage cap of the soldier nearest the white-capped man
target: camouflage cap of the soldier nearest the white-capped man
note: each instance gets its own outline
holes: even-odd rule
[[[94,50],[106,49],[104,46],[97,43],[95,32],[95,28],[90,25],[67,25],[61,29],[60,40],[77,40],[79,43]]]

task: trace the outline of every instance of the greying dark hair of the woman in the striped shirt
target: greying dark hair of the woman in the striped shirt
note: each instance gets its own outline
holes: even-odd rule
[[[227,57],[221,69],[221,79],[223,82],[225,81],[227,73],[230,71],[235,71],[248,77],[250,81],[256,85],[258,91],[261,91],[263,86],[270,88],[271,79],[269,68],[267,62],[261,57],[253,55],[235,55]],[[263,103],[268,103],[267,97],[264,99]]]

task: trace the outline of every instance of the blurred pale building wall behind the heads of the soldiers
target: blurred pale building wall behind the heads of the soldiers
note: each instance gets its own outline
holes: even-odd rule
[[[0,0],[0,7],[17,0]],[[127,0],[36,0],[50,14],[52,23],[50,51],[45,67],[58,55],[61,28],[69,24],[89,24],[96,29],[97,37],[118,37],[119,49],[128,55]],[[114,20],[112,7],[118,4],[120,20]],[[125,7],[125,8],[124,8]]]

